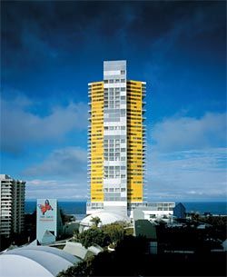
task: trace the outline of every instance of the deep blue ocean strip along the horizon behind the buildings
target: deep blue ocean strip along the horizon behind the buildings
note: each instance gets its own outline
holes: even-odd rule
[[[76,219],[84,218],[86,213],[85,202],[58,202],[58,205],[66,214],[74,214]],[[227,215],[226,202],[183,202],[186,212],[212,213]],[[25,202],[25,213],[34,213],[36,208],[35,201]]]

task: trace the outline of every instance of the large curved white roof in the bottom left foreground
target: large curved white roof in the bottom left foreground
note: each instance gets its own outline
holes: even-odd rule
[[[79,261],[69,253],[47,246],[21,247],[0,255],[0,275],[53,277]]]

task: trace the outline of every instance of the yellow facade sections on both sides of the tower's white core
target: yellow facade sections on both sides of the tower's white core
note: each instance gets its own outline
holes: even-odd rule
[[[127,200],[143,202],[143,87],[127,81]],[[104,202],[104,82],[89,84],[91,202]]]

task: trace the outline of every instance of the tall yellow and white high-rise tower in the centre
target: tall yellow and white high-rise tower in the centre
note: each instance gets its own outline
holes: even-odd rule
[[[145,90],[127,80],[126,61],[104,62],[104,80],[88,84],[88,214],[143,203]]]

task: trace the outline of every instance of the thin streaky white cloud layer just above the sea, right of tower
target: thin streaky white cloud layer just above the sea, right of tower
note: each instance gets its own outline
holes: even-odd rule
[[[227,199],[227,148],[160,153],[148,159],[148,198],[155,201]]]

